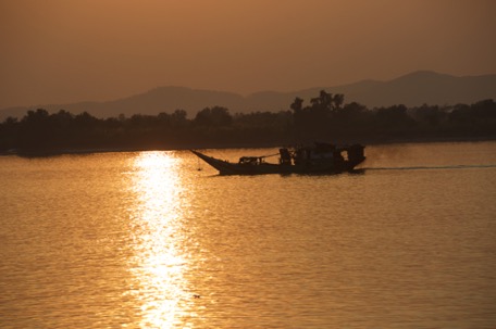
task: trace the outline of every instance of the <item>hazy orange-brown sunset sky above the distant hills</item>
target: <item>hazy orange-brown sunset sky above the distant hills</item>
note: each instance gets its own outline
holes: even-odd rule
[[[493,0],[0,0],[0,107],[496,73]]]

